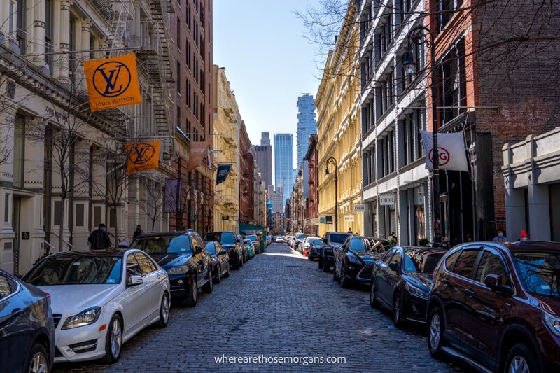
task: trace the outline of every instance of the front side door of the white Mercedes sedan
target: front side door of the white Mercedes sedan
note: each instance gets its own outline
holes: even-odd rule
[[[130,276],[142,276],[142,270],[134,253],[129,253],[126,258],[125,281]],[[150,303],[150,293],[145,291],[145,284],[127,285],[123,292],[123,312],[125,335],[135,330],[141,321],[146,318],[146,305]]]

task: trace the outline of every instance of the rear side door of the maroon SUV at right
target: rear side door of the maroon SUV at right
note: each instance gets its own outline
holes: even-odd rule
[[[446,288],[440,290],[440,296],[445,306],[445,320],[447,332],[454,337],[456,343],[461,343],[471,326],[465,325],[464,314],[467,307],[468,289],[472,287],[472,272],[481,250],[479,247],[467,247],[459,253],[451,268],[447,268],[442,283]],[[447,265],[447,263],[446,263]]]

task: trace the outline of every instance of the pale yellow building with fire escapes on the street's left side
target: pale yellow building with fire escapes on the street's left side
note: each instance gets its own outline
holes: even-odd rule
[[[214,65],[214,163],[232,164],[226,181],[216,185],[214,230],[239,231],[239,129],[241,115],[225,69]],[[216,171],[214,171],[216,174]],[[216,180],[216,175],[214,175]]]

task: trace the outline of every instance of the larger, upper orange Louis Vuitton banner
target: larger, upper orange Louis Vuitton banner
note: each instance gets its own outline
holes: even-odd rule
[[[85,61],[83,66],[91,111],[141,104],[134,53]]]

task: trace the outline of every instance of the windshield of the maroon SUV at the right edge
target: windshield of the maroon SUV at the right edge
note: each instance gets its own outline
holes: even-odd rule
[[[529,293],[560,299],[560,254],[515,253],[513,256]]]

